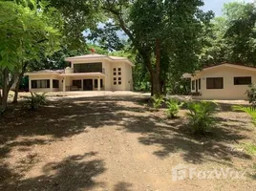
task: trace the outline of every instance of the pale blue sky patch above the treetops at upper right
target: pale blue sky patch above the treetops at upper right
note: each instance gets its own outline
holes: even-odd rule
[[[216,16],[222,15],[224,3],[234,2],[235,0],[204,0],[203,11],[214,11]],[[239,0],[238,0],[239,1]],[[243,0],[241,0],[243,2]],[[246,3],[253,0],[245,0]]]

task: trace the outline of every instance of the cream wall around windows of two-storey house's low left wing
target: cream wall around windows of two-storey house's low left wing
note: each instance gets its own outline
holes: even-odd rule
[[[32,80],[50,79],[50,88],[36,88],[32,89]],[[61,77],[57,74],[32,74],[29,75],[29,89],[30,92],[58,92],[59,88],[53,88],[53,79],[59,81],[58,87],[61,87]]]

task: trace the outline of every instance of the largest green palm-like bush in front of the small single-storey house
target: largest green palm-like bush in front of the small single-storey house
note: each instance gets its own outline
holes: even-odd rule
[[[187,109],[193,133],[205,135],[215,121],[214,113],[217,111],[217,104],[208,101],[191,102],[187,104]]]

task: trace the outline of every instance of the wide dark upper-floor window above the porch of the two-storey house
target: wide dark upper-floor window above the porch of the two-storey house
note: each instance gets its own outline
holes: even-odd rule
[[[74,73],[103,73],[102,63],[74,64]]]

